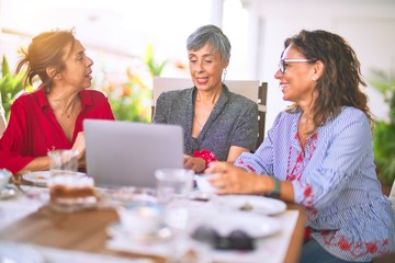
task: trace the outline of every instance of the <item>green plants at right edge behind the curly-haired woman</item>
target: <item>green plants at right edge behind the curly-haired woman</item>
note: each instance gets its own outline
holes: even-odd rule
[[[377,119],[373,130],[373,151],[379,176],[386,185],[395,180],[395,78],[382,70],[371,70],[369,82],[383,94],[390,106],[387,119]]]

